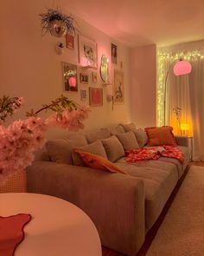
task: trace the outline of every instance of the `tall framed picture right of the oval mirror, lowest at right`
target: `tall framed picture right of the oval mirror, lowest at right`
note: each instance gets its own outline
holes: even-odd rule
[[[113,101],[124,103],[124,72],[117,69],[114,69]]]

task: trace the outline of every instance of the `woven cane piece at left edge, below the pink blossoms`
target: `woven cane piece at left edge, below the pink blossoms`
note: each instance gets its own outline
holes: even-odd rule
[[[21,171],[12,176],[4,184],[0,185],[0,193],[27,192],[26,172]]]

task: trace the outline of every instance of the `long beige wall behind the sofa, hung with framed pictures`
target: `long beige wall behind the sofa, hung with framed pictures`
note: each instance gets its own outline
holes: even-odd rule
[[[46,35],[41,37],[40,13],[46,12],[46,8],[53,8],[52,1],[50,6],[45,1],[6,0],[1,3],[0,9],[0,95],[18,95],[25,98],[25,105],[22,111],[16,115],[23,116],[26,110],[30,108],[39,108],[42,103],[50,102],[52,99],[64,93],[70,99],[80,104],[80,89],[87,89],[87,85],[79,84],[79,92],[63,91],[61,61],[70,62],[79,65],[77,36],[75,36],[75,49],[65,49],[61,56],[54,51],[56,43],[65,43],[64,38],[56,38]],[[71,10],[62,11],[70,14]],[[80,32],[98,43],[98,62],[102,54],[110,58],[111,43],[118,45],[118,62],[124,63],[125,77],[125,103],[115,105],[112,111],[112,104],[106,102],[106,94],[112,93],[112,86],[102,86],[99,78],[97,87],[104,89],[104,106],[102,108],[92,108],[92,113],[86,121],[86,129],[94,129],[119,121],[130,121],[130,56],[129,49],[122,43],[118,43],[104,33],[96,30],[90,24],[87,24],[76,18],[80,25]],[[111,67],[112,71],[116,67]],[[92,70],[90,73],[91,79]],[[79,66],[80,73],[80,66]],[[89,84],[93,85],[92,82]],[[88,104],[88,99],[85,102]],[[57,129],[49,131],[49,137],[64,136],[65,132]]]

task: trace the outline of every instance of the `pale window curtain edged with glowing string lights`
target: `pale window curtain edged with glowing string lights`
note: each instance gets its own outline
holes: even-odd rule
[[[172,63],[180,58],[192,64],[189,75],[175,76]],[[166,98],[166,124],[177,135],[194,136],[194,161],[204,160],[204,53],[192,50],[177,53],[158,52],[157,125],[163,120],[163,89],[169,70]],[[181,108],[177,119],[173,108]],[[182,130],[181,130],[182,128]]]

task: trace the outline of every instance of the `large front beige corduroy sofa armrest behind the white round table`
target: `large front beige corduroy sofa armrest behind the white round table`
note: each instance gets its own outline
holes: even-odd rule
[[[30,193],[60,197],[86,212],[104,246],[135,255],[143,245],[143,181],[51,161],[35,161],[27,176]]]

